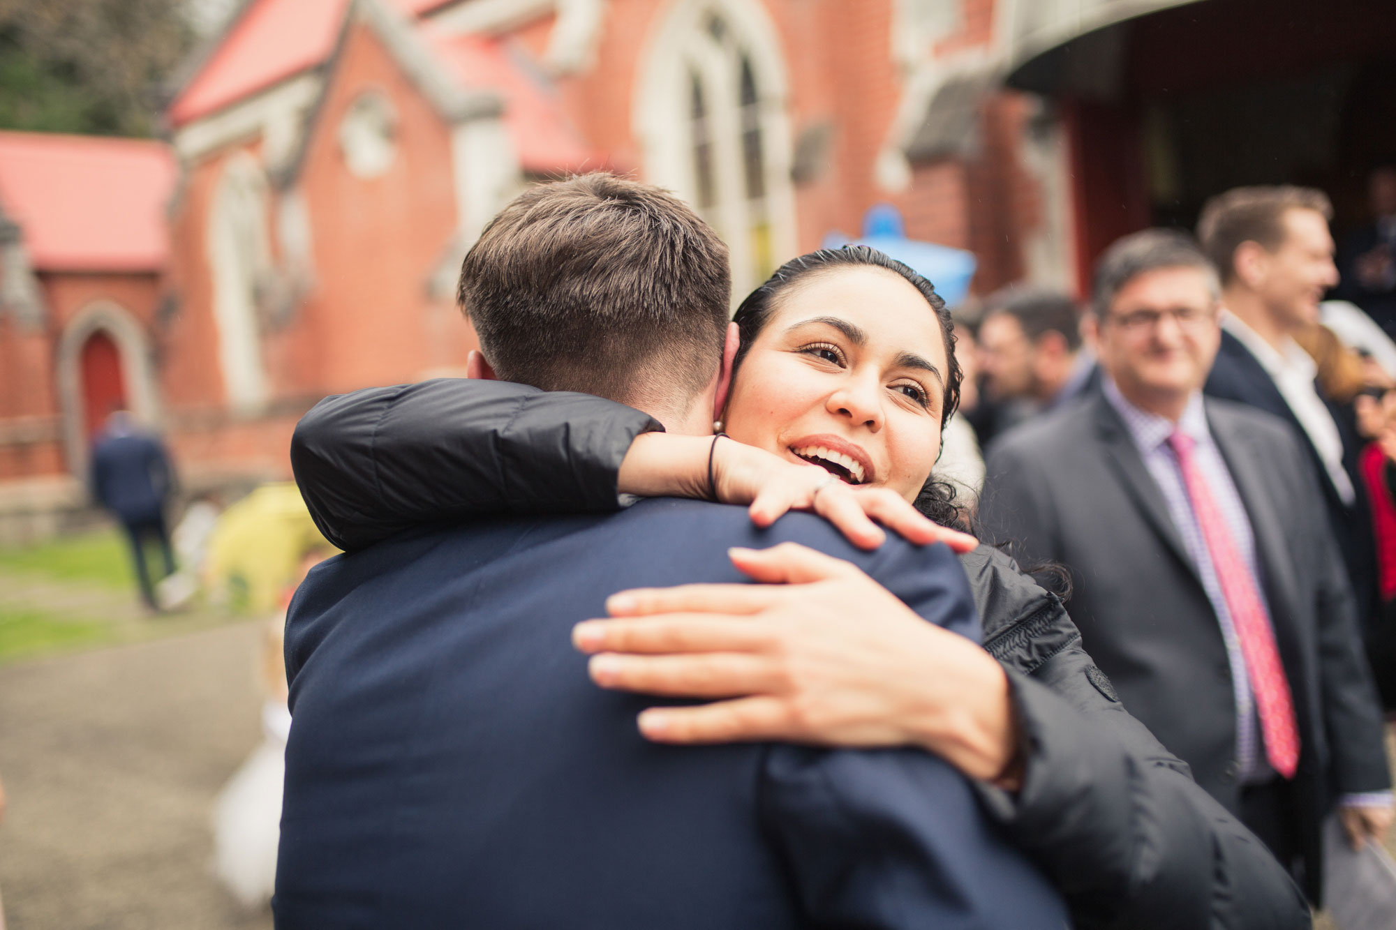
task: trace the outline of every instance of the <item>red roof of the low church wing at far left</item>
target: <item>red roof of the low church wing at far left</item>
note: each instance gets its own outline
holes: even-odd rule
[[[162,142],[0,133],[0,209],[36,270],[159,270],[174,177]]]

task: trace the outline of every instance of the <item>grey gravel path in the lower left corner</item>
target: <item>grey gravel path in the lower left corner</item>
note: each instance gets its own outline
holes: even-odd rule
[[[8,930],[265,930],[209,874],[214,796],[260,739],[261,623],[0,666]]]

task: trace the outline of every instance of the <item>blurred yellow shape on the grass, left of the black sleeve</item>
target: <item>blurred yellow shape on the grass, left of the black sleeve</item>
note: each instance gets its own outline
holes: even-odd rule
[[[215,603],[268,613],[299,581],[306,553],[317,549],[338,552],[315,529],[296,485],[262,485],[218,518],[204,584]]]

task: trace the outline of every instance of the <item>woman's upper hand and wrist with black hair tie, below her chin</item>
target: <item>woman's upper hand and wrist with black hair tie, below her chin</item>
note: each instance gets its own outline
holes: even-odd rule
[[[919,545],[944,542],[955,552],[970,552],[979,545],[969,533],[931,522],[896,492],[854,487],[818,465],[787,462],[730,437],[638,436],[621,462],[617,483],[621,493],[642,497],[716,494],[725,504],[750,504],[751,521],[758,526],[769,526],[786,511],[808,510],[860,549],[877,549],[886,539],[874,519]]]

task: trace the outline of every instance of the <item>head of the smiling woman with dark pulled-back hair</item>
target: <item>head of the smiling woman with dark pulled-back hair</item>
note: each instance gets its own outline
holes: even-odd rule
[[[953,324],[926,278],[866,246],[825,249],[782,265],[733,321],[733,438],[959,522],[949,489],[930,478],[962,376]]]

